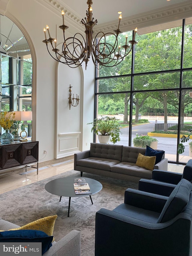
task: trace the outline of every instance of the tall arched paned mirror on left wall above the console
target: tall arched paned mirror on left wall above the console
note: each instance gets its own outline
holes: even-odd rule
[[[12,110],[32,111],[32,56],[22,31],[0,15],[0,111]],[[31,120],[20,128],[31,137]]]

